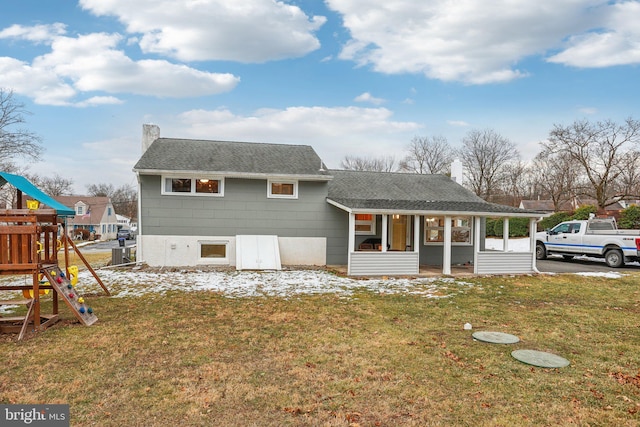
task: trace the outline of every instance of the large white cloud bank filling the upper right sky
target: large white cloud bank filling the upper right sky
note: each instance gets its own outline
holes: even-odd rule
[[[570,47],[552,61],[591,67],[640,62],[637,1],[326,2],[351,35],[340,58],[387,74],[507,82],[528,75],[519,61],[557,51],[567,39]],[[603,32],[586,33],[594,29]]]

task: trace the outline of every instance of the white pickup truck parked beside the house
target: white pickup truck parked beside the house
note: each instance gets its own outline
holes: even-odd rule
[[[619,230],[613,218],[566,221],[536,233],[536,258],[578,255],[604,258],[609,267],[640,260],[640,230]]]

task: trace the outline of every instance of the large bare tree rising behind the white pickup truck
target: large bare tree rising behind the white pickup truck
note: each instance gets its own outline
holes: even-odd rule
[[[628,118],[623,124],[611,120],[589,122],[577,120],[569,126],[554,125],[543,146],[552,153],[566,153],[584,172],[590,185],[587,194],[599,209],[630,194],[618,193],[616,183],[626,173],[625,168],[633,144],[640,143],[640,121]]]

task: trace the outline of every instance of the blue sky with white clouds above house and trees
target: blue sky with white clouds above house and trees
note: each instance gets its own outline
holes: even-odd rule
[[[523,159],[554,123],[640,119],[640,1],[20,0],[0,87],[42,137],[30,166],[135,185],[162,136],[312,145],[329,167],[472,129]]]

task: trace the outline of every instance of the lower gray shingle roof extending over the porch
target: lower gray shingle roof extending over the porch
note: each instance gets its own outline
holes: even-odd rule
[[[444,175],[331,170],[328,199],[350,209],[542,215],[488,203]]]

